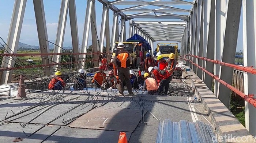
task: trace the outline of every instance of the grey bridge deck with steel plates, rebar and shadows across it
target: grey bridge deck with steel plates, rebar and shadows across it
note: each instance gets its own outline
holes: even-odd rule
[[[185,80],[188,82],[188,80]],[[190,83],[188,83],[190,84]],[[185,85],[181,80],[173,79],[171,82],[170,89],[174,89],[174,87],[178,87],[181,85]],[[181,89],[181,88],[180,88]],[[180,120],[187,120],[188,122],[193,122],[195,120],[199,120],[202,122],[207,123],[207,120],[202,116],[204,114],[207,118],[206,111],[204,110],[202,104],[200,103],[189,103],[188,100],[191,99],[188,97],[188,94],[184,94],[185,92],[180,90],[180,95],[173,94],[177,91],[171,91],[172,94],[168,96],[156,96],[156,95],[147,95],[143,94],[142,101],[143,107],[150,111],[155,117],[158,119],[162,116],[160,120],[164,119],[171,119],[173,122],[179,122]],[[52,91],[44,91],[44,92],[37,92],[37,93],[30,93],[27,94],[30,97],[29,100],[24,101],[17,101],[14,99],[6,99],[0,101],[0,116],[1,120],[4,119],[5,114],[8,112],[7,118],[14,115],[11,110],[18,114],[19,111],[24,111],[26,108],[32,108],[38,103],[42,103],[38,107],[32,108],[29,111],[24,112],[23,114],[14,116],[12,118],[7,119],[11,123],[5,123],[1,126],[0,131],[0,140],[4,142],[11,142],[15,138],[19,136],[21,138],[25,138],[26,143],[30,142],[43,142],[43,143],[77,143],[77,142],[90,142],[90,143],[101,143],[101,142],[118,142],[118,135],[123,130],[132,129],[131,126],[135,125],[135,128],[130,132],[127,131],[127,138],[129,138],[130,143],[154,143],[157,138],[157,131],[159,121],[154,118],[149,112],[144,110],[144,120],[145,122],[149,122],[147,124],[139,123],[141,117],[140,113],[137,116],[137,120],[134,119],[124,119],[124,108],[128,108],[130,110],[140,111],[140,104],[136,103],[135,101],[139,102],[140,94],[136,96],[116,96],[113,92],[99,92],[95,96],[95,99],[92,100],[92,97],[96,94],[94,91],[90,91],[90,94],[83,92],[83,91],[64,91],[59,93],[52,93]],[[193,95],[193,94],[190,94]],[[69,100],[67,102],[57,104],[54,98],[60,99],[58,102],[62,102],[64,100]],[[73,99],[76,98],[76,99]],[[51,101],[47,101],[49,99],[53,99]],[[73,99],[73,100],[71,100]],[[193,97],[192,97],[193,99]],[[135,100],[135,101],[134,101]],[[78,106],[86,101],[86,104]],[[105,104],[106,103],[106,104]],[[43,106],[42,106],[43,105]],[[39,114],[41,111],[49,108],[50,106],[54,106],[47,110],[44,114],[38,116],[38,118],[34,119],[30,122],[27,126],[22,128],[19,125],[19,122],[26,123],[34,116]],[[49,123],[51,120],[56,118],[57,116],[65,113],[66,111],[70,110],[72,107],[78,106],[74,110],[70,111],[69,113],[61,116],[61,118],[56,119],[55,121]],[[97,107],[95,107],[97,106]],[[100,107],[101,106],[101,107]],[[191,108],[192,106],[192,108]],[[31,113],[37,109],[43,108],[33,114],[26,115]],[[116,108],[121,108],[116,114],[113,113],[112,118],[110,117],[109,120],[101,120],[100,124],[104,127],[94,128],[97,130],[86,129],[89,126],[89,120],[82,120],[82,126],[78,125],[76,122],[78,119],[71,120],[70,122],[65,122],[69,119],[72,119],[75,116],[83,114],[89,111],[91,108],[95,107],[93,110],[88,112],[87,114],[94,115],[95,117],[102,118],[102,114],[104,112],[109,112],[108,110],[113,110]],[[194,108],[193,108],[194,107]],[[100,112],[99,109],[102,109],[103,112]],[[202,114],[200,114],[200,112]],[[111,113],[110,113],[111,114]],[[26,115],[22,117],[22,115]],[[85,116],[86,114],[84,114]],[[83,118],[81,116],[80,118]],[[106,115],[108,116],[108,115]],[[109,115],[110,116],[110,115]],[[132,115],[129,115],[132,116]],[[195,117],[196,116],[196,117]],[[14,120],[15,118],[18,118]],[[63,119],[64,118],[64,119]],[[104,118],[105,119],[105,118]],[[12,121],[11,121],[12,120]],[[92,119],[93,120],[93,119]],[[124,122],[117,123],[118,120],[124,120]],[[133,123],[129,122],[129,120],[134,120]],[[4,123],[6,120],[0,123]],[[64,121],[64,123],[63,123]],[[74,121],[72,123],[72,121]],[[127,122],[126,122],[127,121]],[[80,122],[80,121],[79,121]],[[27,137],[22,131],[25,131],[26,134],[32,133],[33,131],[37,130],[38,128],[42,127],[44,124],[49,123],[50,125],[42,128],[35,134]],[[71,124],[72,123],[72,124]],[[97,125],[98,122],[93,122],[93,125]],[[105,124],[104,124],[105,123]],[[118,127],[113,129],[113,124]],[[72,128],[72,126],[79,126],[79,128]],[[71,126],[71,127],[69,127]],[[102,126],[102,125],[101,125]],[[120,126],[120,128],[119,128]],[[90,127],[89,127],[90,128]],[[113,129],[113,130],[112,130]],[[106,131],[110,130],[110,131]],[[50,136],[52,134],[52,136]]]

